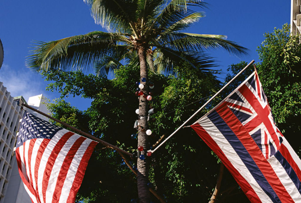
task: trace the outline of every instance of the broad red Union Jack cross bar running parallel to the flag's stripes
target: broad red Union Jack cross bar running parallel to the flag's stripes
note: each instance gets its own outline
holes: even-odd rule
[[[268,130],[268,133],[271,135],[272,139],[274,140],[277,149],[280,146],[278,136],[275,133],[275,130],[272,126],[271,121],[268,118],[268,115],[270,114],[268,105],[265,106],[265,108],[262,108],[261,104],[253,94],[253,92],[244,84],[239,89],[239,92],[247,99],[247,101],[250,103],[250,105],[253,107],[253,109],[256,111],[258,115],[258,119],[262,121],[262,123],[265,125],[266,129]]]

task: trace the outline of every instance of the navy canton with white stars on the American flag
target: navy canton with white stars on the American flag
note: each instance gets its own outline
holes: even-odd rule
[[[25,111],[20,123],[19,136],[16,147],[23,145],[29,139],[44,138],[51,139],[57,131],[63,128],[49,123],[33,114]]]

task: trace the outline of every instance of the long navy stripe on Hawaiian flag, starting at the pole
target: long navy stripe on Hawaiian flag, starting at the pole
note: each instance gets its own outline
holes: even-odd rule
[[[243,161],[244,165],[248,168],[258,185],[262,190],[271,198],[273,202],[281,202],[272,186],[268,183],[261,170],[256,165],[255,161],[244,147],[244,145],[237,138],[235,133],[230,129],[227,123],[219,116],[216,111],[212,111],[207,116],[211,122],[217,127],[222,135],[228,140],[230,145],[233,147],[237,155]]]

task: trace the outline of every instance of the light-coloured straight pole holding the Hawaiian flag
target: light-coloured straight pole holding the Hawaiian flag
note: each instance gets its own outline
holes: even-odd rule
[[[193,118],[200,110],[202,110],[210,101],[212,101],[220,92],[222,92],[230,83],[232,83],[233,80],[235,80],[244,70],[246,70],[251,64],[254,63],[254,60],[252,60],[246,67],[244,67],[242,70],[240,70],[239,73],[237,73],[236,76],[234,76],[225,86],[222,87],[218,92],[216,92],[215,95],[213,95],[199,110],[197,110],[191,117],[189,117],[180,127],[178,127],[177,130],[175,130],[170,136],[168,136],[163,142],[160,143],[154,150],[148,150],[151,153],[154,153],[161,145],[163,145],[169,138],[171,138],[178,130],[180,130],[191,118]]]

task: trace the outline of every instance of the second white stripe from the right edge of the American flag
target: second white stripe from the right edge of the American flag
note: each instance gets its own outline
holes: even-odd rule
[[[63,165],[63,162],[65,160],[65,157],[67,153],[69,152],[70,148],[74,144],[74,142],[79,138],[80,136],[77,134],[72,135],[67,142],[64,144],[64,146],[61,148],[61,151],[57,155],[57,158],[54,161],[53,169],[51,170],[51,174],[49,176],[48,186],[46,190],[46,203],[52,202],[52,197],[54,194],[55,186],[57,183],[57,177],[59,176],[61,167]]]

